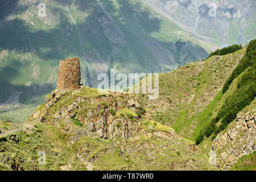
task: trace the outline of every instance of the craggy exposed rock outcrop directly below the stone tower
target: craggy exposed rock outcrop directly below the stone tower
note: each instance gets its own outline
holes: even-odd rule
[[[77,119],[88,131],[110,139],[127,139],[142,130],[141,123],[134,120],[138,119],[137,116],[127,118],[123,114],[110,113],[110,110],[118,111],[128,107],[135,113],[140,104],[131,94],[107,93],[97,97],[84,97],[81,92],[81,89],[54,90],[47,96],[45,109],[39,110],[38,107],[28,120],[39,119],[55,125],[60,119]]]

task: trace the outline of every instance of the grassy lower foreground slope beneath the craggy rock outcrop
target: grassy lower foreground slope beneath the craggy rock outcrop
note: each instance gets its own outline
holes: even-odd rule
[[[9,123],[0,121],[0,127],[3,125],[9,130]],[[0,170],[216,169],[205,155],[189,150],[192,142],[143,130],[128,139],[102,139],[69,119],[60,119],[53,126],[34,120],[22,131],[0,136]],[[47,152],[46,165],[38,163],[42,150]]]

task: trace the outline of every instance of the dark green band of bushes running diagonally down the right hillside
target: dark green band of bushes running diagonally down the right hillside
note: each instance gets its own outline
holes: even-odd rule
[[[200,135],[196,138],[196,144],[199,144],[204,139],[204,136],[210,137],[212,133],[218,134],[224,130],[236,118],[237,113],[254,100],[256,96],[255,48],[256,40],[252,40],[247,48],[246,55],[227,81],[228,85],[230,85],[234,78],[243,72],[240,81],[238,81],[236,92],[226,98],[225,103],[218,110],[217,116],[208,123],[205,129],[201,130]],[[216,123],[219,121],[221,121],[220,126],[217,126]]]

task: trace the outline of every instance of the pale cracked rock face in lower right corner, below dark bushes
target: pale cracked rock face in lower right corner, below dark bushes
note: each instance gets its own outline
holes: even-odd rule
[[[229,129],[217,135],[212,147],[218,151],[217,165],[229,169],[242,156],[256,150],[256,114],[238,114]]]

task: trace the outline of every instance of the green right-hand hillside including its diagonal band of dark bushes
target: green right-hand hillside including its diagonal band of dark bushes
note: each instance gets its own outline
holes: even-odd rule
[[[158,100],[146,101],[154,119],[196,144],[214,139],[255,98],[254,44],[160,74]]]

